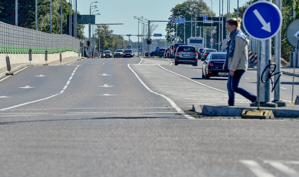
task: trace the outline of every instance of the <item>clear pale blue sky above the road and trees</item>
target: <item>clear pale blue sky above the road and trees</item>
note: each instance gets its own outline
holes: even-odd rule
[[[67,0],[69,1],[69,0]],[[74,1],[74,0],[73,0]],[[144,16],[144,19],[148,20],[168,20],[171,13],[170,10],[175,7],[176,4],[181,4],[184,0],[151,0],[151,1],[141,1],[141,0],[77,0],[77,10],[80,11],[82,15],[89,14],[89,7],[92,2],[98,1],[98,3],[93,3],[97,5],[97,8],[92,9],[99,10],[96,13],[101,15],[96,16],[96,23],[123,23],[123,25],[109,25],[114,34],[138,34],[138,20],[134,19],[133,16]],[[213,2],[213,12],[219,14],[219,0],[205,0],[207,5],[211,7],[211,1]],[[222,0],[221,1],[221,12],[222,12]],[[234,8],[237,8],[237,0],[231,1],[231,12]],[[239,6],[242,6],[246,0],[239,0]],[[147,9],[150,10],[147,10]],[[223,13],[227,12],[227,0],[223,0]],[[218,15],[217,15],[218,16]],[[187,19],[190,20],[190,19]],[[154,33],[162,33],[166,35],[166,24],[167,22],[155,22],[158,27],[155,29]],[[85,36],[88,36],[88,25],[85,27]],[[141,23],[139,24],[139,34],[141,34]],[[153,37],[153,39],[164,38],[163,37]],[[127,36],[124,36],[128,40]],[[132,41],[138,41],[137,36],[131,36]],[[141,38],[140,38],[141,39]]]

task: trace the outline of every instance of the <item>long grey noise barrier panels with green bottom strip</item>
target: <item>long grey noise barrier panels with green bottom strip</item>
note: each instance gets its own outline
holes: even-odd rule
[[[80,40],[66,34],[49,34],[0,22],[0,53],[33,54],[78,52]]]

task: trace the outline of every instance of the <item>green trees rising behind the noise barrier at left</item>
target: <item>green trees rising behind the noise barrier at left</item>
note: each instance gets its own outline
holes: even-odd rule
[[[15,1],[1,0],[0,21],[15,25]],[[0,7],[0,9],[1,9]],[[68,33],[69,3],[62,0],[62,33]],[[74,14],[74,10],[71,10]],[[78,13],[80,14],[80,13]],[[35,29],[35,0],[18,0],[18,26]],[[37,0],[37,30],[50,33],[50,0]],[[84,38],[84,25],[77,25],[78,39]],[[52,33],[60,33],[60,0],[52,0]]]

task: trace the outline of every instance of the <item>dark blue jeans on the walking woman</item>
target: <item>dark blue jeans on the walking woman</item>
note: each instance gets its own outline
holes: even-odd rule
[[[227,90],[228,90],[228,106],[234,106],[235,105],[235,93],[241,94],[243,97],[247,98],[251,102],[254,102],[257,97],[253,95],[252,93],[248,92],[247,90],[239,87],[239,82],[244,74],[244,70],[236,70],[234,72],[234,76],[231,76],[228,74],[228,81],[227,81]]]

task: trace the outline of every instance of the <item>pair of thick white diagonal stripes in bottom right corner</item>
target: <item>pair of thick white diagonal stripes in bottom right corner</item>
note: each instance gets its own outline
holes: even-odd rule
[[[256,161],[253,160],[240,160],[242,164],[244,164],[255,176],[257,177],[275,177],[271,174],[268,170],[258,164]],[[285,164],[295,164],[298,165],[299,161],[273,161],[273,160],[265,160],[263,161],[265,164],[269,164],[274,167],[276,170],[284,173],[286,176],[289,177],[299,177],[299,173],[290,168]]]

